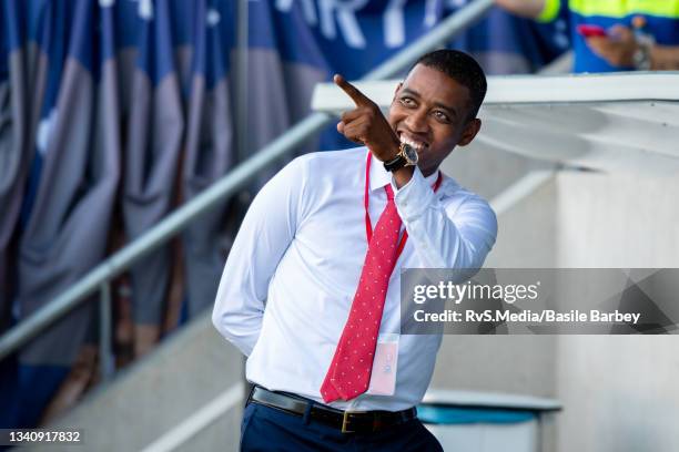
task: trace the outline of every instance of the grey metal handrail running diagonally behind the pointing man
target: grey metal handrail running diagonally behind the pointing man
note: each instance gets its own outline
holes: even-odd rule
[[[494,0],[476,0],[462,8],[429,33],[419,38],[393,58],[368,72],[363,80],[382,80],[406,70],[419,55],[445,44],[456,33],[480,19]],[[88,296],[100,291],[100,371],[102,378],[113,373],[111,356],[111,279],[125,271],[142,257],[152,253],[181,233],[193,219],[216,207],[245,186],[251,177],[293,148],[304,143],[331,121],[326,113],[312,113],[295,124],[251,158],[237,165],[226,176],[200,193],[195,198],[172,212],[156,226],[136,240],[113,254],[82,277],[72,287],[40,308],[0,338],[0,360],[12,353],[53,322],[84,302]]]

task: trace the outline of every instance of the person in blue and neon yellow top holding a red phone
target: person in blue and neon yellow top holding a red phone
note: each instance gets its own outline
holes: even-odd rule
[[[679,0],[496,0],[510,12],[550,22],[566,16],[575,72],[679,69]],[[579,25],[600,27],[584,35]]]

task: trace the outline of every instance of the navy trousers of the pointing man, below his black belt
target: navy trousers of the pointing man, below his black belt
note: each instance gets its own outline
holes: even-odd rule
[[[419,422],[408,422],[375,433],[342,433],[324,423],[250,402],[241,424],[241,450],[254,451],[443,451]]]

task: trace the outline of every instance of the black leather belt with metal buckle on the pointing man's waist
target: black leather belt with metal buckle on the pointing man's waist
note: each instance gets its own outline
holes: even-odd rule
[[[294,394],[273,392],[259,386],[253,388],[247,401],[300,417],[306,413],[311,404],[310,418],[312,420],[334,427],[342,433],[377,432],[417,418],[415,408],[403,411],[342,411]]]

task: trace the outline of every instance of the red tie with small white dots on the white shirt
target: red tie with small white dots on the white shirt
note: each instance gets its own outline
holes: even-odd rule
[[[335,349],[321,396],[326,403],[352,400],[368,389],[389,276],[398,259],[401,217],[394,192],[385,186],[387,205],[369,240],[348,319]]]

